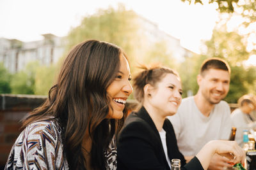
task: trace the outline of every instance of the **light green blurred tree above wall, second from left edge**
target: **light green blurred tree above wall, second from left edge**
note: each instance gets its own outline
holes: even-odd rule
[[[12,94],[35,93],[35,73],[38,66],[38,62],[29,62],[24,70],[13,74],[10,83]]]

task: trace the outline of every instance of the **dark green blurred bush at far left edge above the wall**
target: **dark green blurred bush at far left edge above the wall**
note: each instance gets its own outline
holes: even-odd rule
[[[10,81],[12,75],[4,67],[3,63],[0,63],[0,94],[11,93]]]

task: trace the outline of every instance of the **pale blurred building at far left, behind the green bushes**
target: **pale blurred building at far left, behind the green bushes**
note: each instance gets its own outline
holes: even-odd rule
[[[63,55],[65,38],[53,34],[42,36],[44,39],[31,42],[0,38],[0,62],[3,62],[10,73],[24,69],[33,61],[46,66],[56,62]]]

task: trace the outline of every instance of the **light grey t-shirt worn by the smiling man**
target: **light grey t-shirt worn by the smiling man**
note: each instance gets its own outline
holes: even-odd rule
[[[182,99],[177,113],[168,118],[184,156],[196,155],[211,140],[228,139],[231,132],[230,107],[225,101],[216,104],[209,117],[205,117],[194,97],[187,97]]]

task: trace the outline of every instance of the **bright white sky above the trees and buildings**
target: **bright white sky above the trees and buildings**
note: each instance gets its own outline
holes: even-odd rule
[[[179,38],[193,52],[199,52],[201,39],[211,38],[218,19],[214,4],[189,6],[180,0],[0,0],[0,37],[34,41],[45,33],[66,36],[84,16],[118,3]]]

